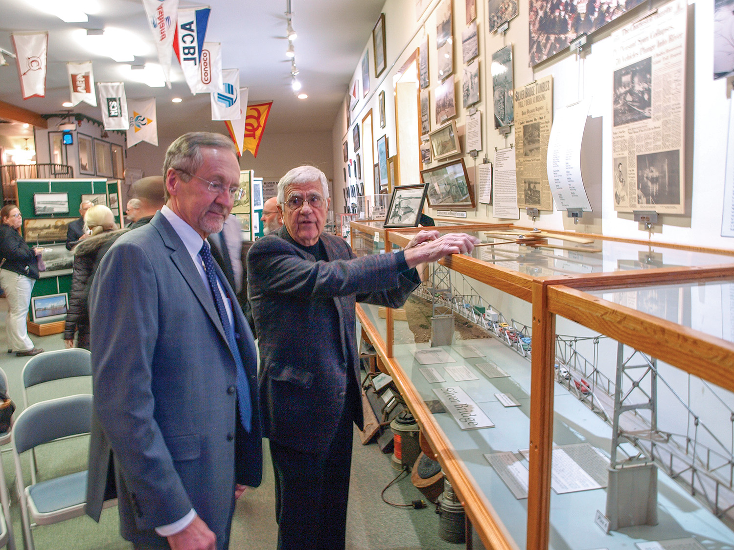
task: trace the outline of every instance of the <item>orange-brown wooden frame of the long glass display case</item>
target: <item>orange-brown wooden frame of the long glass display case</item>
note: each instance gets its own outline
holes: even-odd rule
[[[410,237],[421,228],[384,230],[352,222],[353,229],[379,232],[385,239],[385,250],[392,243],[406,246]],[[441,231],[523,230],[512,224],[466,224],[457,227],[437,227]],[[608,238],[575,232],[553,232],[563,238],[586,237],[599,241],[632,243],[658,249],[677,249],[709,254],[724,254],[731,262],[705,267],[666,267],[612,273],[574,274],[553,277],[534,277],[465,255],[454,255],[440,263],[490,287],[509,293],[532,304],[532,357],[531,357],[531,411],[530,411],[530,472],[528,477],[527,549],[542,550],[549,545],[551,511],[551,463],[553,450],[553,383],[555,364],[556,315],[580,323],[602,334],[631,345],[661,359],[674,367],[704,380],[734,391],[734,345],[687,329],[669,321],[611,304],[592,296],[584,296],[579,288],[630,287],[648,283],[686,282],[695,279],[734,276],[734,251],[704,249],[634,239]],[[556,237],[553,237],[556,238]],[[473,523],[482,542],[491,549],[517,548],[504,527],[495,521],[495,513],[486,497],[476,490],[470,474],[448,444],[432,413],[425,406],[415,387],[393,359],[393,317],[387,310],[387,341],[382,342],[377,329],[357,305],[360,323],[366,327],[371,341],[382,361],[388,365],[401,394],[415,415],[424,436],[436,452],[439,462],[451,480],[454,490],[462,499],[465,512]]]

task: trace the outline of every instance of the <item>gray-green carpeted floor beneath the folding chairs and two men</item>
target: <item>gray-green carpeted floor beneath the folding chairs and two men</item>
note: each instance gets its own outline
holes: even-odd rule
[[[23,408],[21,394],[21,371],[27,358],[15,357],[4,353],[7,350],[4,330],[4,318],[7,302],[0,299],[0,367],[7,373],[10,386],[10,397],[15,401],[20,414]],[[37,347],[46,351],[63,348],[61,334],[47,337],[31,335]],[[68,395],[69,393],[90,393],[90,380],[86,378],[73,381],[50,383],[32,388],[29,401]],[[386,505],[380,499],[380,491],[397,472],[390,466],[391,455],[384,455],[376,444],[363,446],[360,444],[355,428],[354,455],[352,459],[352,482],[349,495],[349,514],[347,518],[346,547],[352,550],[448,550],[465,548],[463,544],[448,543],[438,533],[439,517],[435,506],[429,504],[422,510],[413,508],[395,508]],[[59,441],[38,452],[40,464],[39,477],[43,479],[49,474],[73,472],[86,468],[87,438],[76,438]],[[264,441],[264,479],[260,487],[248,489],[237,502],[232,524],[231,549],[265,550],[275,549],[277,540],[277,524],[275,523],[275,498],[273,491],[273,473],[270,463],[267,441]],[[23,457],[26,458],[26,457]],[[25,463],[25,479],[29,483],[29,466]],[[16,546],[23,547],[23,535],[18,508],[18,497],[15,495],[15,466],[13,465],[10,446],[2,450],[2,463],[5,479],[11,487],[13,529]],[[388,489],[388,500],[396,503],[410,503],[421,498],[420,492],[410,483],[410,477],[401,480]],[[101,521],[95,524],[90,518],[83,516],[60,524],[37,527],[33,530],[35,546],[43,549],[129,549],[131,546],[120,538],[117,524],[117,508],[104,510]]]

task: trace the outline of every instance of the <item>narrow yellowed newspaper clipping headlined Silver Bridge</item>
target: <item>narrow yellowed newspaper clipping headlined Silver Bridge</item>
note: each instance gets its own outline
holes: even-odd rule
[[[553,77],[515,89],[517,206],[553,210],[545,160],[553,122]]]

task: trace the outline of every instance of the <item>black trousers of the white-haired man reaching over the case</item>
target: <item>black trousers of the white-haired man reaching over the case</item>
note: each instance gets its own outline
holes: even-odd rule
[[[344,409],[334,440],[323,454],[270,441],[278,550],[344,549],[354,422],[352,407]]]

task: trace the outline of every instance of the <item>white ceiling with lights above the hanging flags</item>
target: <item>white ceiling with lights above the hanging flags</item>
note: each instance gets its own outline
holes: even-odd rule
[[[52,0],[68,1],[68,0]],[[159,141],[186,131],[226,133],[223,122],[211,121],[208,94],[191,95],[175,55],[172,89],[150,88],[124,80],[130,63],[117,63],[85,48],[81,29],[116,27],[129,32],[137,48],[135,63],[157,63],[153,36],[141,0],[81,0],[87,23],[65,23],[41,12],[33,0],[0,0],[0,47],[13,51],[10,34],[48,31],[46,97],[21,98],[15,59],[0,67],[0,100],[40,114],[61,112],[70,98],[66,62],[92,60],[95,81],[125,81],[128,98],[156,97]],[[206,40],[222,43],[222,67],[240,70],[240,85],[250,88],[250,103],[273,100],[268,133],[331,131],[360,55],[371,36],[384,0],[291,0],[294,42],[302,92],[291,90],[291,64],[286,57],[286,0],[217,0],[211,2]],[[181,1],[181,6],[201,4]],[[171,103],[171,98],[183,98]],[[73,111],[101,120],[98,107],[79,103]],[[2,125],[0,125],[2,126]]]

